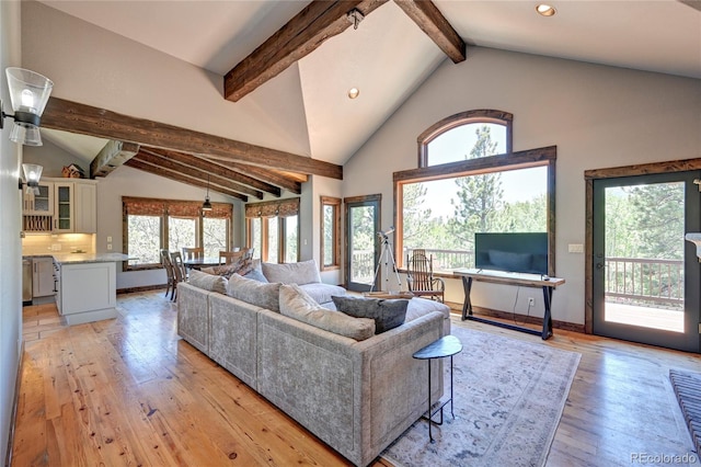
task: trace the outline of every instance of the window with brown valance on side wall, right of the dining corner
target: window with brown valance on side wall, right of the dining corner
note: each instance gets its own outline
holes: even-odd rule
[[[299,198],[245,206],[248,247],[268,263],[299,261]]]

